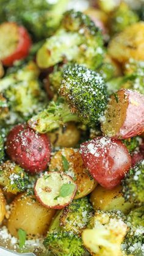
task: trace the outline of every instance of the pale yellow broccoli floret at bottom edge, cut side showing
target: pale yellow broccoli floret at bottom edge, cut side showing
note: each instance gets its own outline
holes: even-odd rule
[[[120,211],[96,211],[92,229],[84,230],[82,240],[92,255],[121,256],[121,243],[126,230],[127,225]]]

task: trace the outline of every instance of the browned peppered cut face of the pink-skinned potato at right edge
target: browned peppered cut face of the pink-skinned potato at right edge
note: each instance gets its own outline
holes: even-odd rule
[[[109,137],[114,137],[123,126],[128,108],[128,97],[124,90],[119,90],[110,97],[107,105],[105,119],[101,125],[101,130]]]

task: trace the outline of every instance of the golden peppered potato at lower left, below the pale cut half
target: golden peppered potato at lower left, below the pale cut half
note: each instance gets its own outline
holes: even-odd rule
[[[16,237],[18,229],[25,230],[28,238],[45,235],[55,213],[55,210],[40,205],[35,196],[24,193],[13,201],[7,227],[10,234]]]

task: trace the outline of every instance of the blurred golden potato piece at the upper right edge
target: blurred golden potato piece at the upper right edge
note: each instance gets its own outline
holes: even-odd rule
[[[144,22],[132,24],[114,37],[108,47],[110,56],[124,64],[129,59],[144,59]]]

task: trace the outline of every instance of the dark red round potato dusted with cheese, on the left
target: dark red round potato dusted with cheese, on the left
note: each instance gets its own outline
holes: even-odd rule
[[[35,133],[26,125],[16,125],[5,143],[7,155],[31,174],[42,172],[48,166],[51,146],[46,134]]]

